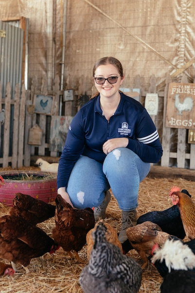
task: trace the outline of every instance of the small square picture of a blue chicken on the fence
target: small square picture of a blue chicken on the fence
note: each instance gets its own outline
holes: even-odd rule
[[[33,104],[35,105],[35,113],[52,115],[53,96],[35,95]]]

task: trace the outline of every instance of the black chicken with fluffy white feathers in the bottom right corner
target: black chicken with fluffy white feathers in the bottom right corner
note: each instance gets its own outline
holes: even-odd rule
[[[195,239],[185,243],[173,237],[161,248],[155,244],[152,253],[151,262],[163,277],[161,293],[195,292]]]

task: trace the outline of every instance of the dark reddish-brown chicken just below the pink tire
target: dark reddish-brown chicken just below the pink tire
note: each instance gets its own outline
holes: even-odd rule
[[[13,200],[13,208],[10,214],[21,216],[32,225],[41,223],[55,215],[55,206],[46,204],[42,200],[36,199],[30,195],[16,193]]]

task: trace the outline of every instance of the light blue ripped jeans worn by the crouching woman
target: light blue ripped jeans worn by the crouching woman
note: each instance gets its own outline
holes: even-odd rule
[[[138,206],[140,182],[149,170],[150,163],[126,147],[108,153],[103,164],[81,155],[71,171],[67,192],[75,208],[85,209],[99,206],[111,188],[119,208],[133,210]]]

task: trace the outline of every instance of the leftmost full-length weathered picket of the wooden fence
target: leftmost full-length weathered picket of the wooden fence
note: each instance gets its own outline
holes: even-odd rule
[[[10,137],[10,108],[11,108],[11,86],[7,83],[5,96],[5,122],[3,137],[3,167],[8,167],[9,137]]]

